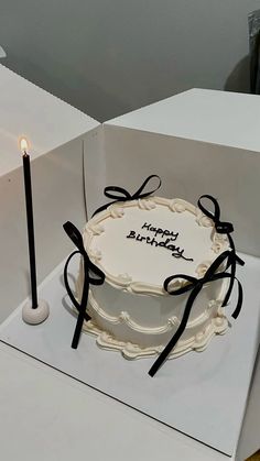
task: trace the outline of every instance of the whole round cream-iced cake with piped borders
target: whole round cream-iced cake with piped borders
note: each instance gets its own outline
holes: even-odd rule
[[[84,230],[89,259],[105,273],[91,286],[84,329],[100,347],[134,359],[160,353],[176,332],[189,293],[171,296],[165,278],[185,274],[202,278],[216,257],[229,249],[226,234],[195,206],[182,199],[151,197],[110,205]],[[83,263],[77,279],[80,299]],[[185,284],[182,277],[173,288]],[[205,284],[196,297],[184,333],[171,355],[204,350],[228,327],[221,307],[227,279]]]

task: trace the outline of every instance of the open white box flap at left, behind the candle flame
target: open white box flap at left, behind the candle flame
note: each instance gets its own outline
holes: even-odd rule
[[[0,176],[21,166],[19,138],[30,140],[33,158],[99,125],[47,91],[0,65]]]

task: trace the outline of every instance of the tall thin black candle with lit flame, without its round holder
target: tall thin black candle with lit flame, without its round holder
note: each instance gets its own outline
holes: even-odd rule
[[[31,184],[31,167],[30,155],[26,152],[28,143],[25,139],[21,140],[21,150],[23,158],[23,178],[26,204],[26,219],[28,219],[28,244],[30,257],[30,274],[31,274],[31,294],[32,308],[37,307],[37,283],[36,283],[36,263],[35,263],[35,245],[34,245],[34,226],[33,226],[33,205],[32,205],[32,184]]]

